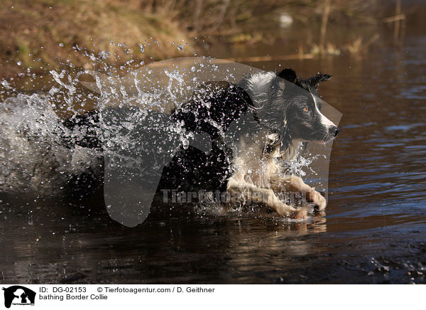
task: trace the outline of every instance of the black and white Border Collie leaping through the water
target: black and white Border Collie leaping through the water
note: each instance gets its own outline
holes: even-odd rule
[[[294,70],[284,69],[255,73],[236,85],[207,83],[172,114],[186,129],[210,135],[211,156],[200,164],[193,149],[181,150],[165,167],[163,176],[180,174],[181,180],[194,179],[188,173],[204,169],[209,171],[204,177],[213,183],[215,178],[219,180],[214,187],[226,188],[241,201],[261,196],[263,204],[290,218],[305,218],[307,208],[280,201],[278,193],[300,193],[324,209],[326,201],[320,193],[299,176],[283,175],[282,171],[302,144],[324,144],[337,136],[337,126],[320,112],[322,100],[317,92],[319,83],[330,78],[318,73],[304,80]],[[204,183],[197,179],[199,186]]]

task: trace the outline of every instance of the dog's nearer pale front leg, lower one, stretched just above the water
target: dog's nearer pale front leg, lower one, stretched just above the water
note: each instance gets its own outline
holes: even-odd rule
[[[281,216],[290,216],[298,219],[306,218],[307,216],[305,208],[296,209],[283,203],[270,188],[259,188],[252,183],[229,178],[226,190],[230,194],[231,200],[238,197],[244,201],[263,203]]]

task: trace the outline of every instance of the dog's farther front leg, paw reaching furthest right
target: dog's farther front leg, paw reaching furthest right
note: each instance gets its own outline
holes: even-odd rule
[[[325,198],[310,187],[299,176],[275,176],[271,178],[271,188],[275,193],[285,191],[286,193],[300,193],[306,196],[307,201],[312,201],[320,210],[327,206]]]

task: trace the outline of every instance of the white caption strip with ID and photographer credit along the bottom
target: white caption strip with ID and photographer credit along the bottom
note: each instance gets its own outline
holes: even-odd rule
[[[8,288],[11,285],[2,284]],[[423,286],[410,285],[23,285],[33,290],[29,308],[10,309],[415,309]],[[21,291],[19,291],[21,292]],[[0,297],[4,308],[4,292]],[[29,301],[28,304],[29,306]],[[154,307],[154,308],[153,308]],[[293,308],[294,307],[294,308]]]

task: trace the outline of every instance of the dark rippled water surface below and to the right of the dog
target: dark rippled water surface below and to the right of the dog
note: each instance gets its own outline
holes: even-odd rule
[[[334,75],[321,86],[343,114],[324,216],[184,213],[125,228],[102,193],[80,205],[2,196],[0,282],[425,283],[426,36],[283,65]]]

